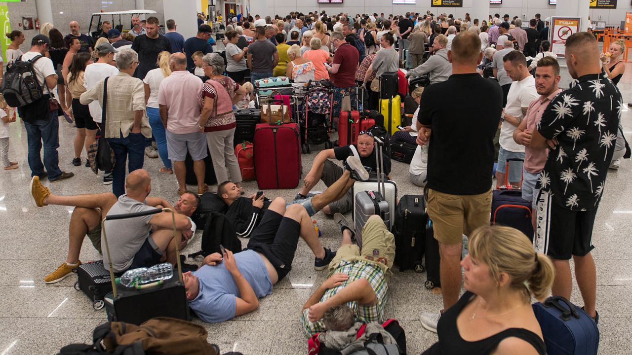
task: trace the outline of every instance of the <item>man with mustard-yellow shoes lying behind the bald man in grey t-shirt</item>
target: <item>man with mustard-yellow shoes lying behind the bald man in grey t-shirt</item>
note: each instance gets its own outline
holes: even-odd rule
[[[113,193],[97,193],[76,196],[59,196],[51,193],[51,190],[43,186],[39,178],[34,176],[30,185],[30,195],[33,198],[33,204],[37,207],[47,205],[74,206],[75,209],[70,217],[70,226],[68,227],[68,256],[66,262],[59,265],[57,270],[47,275],[44,282],[53,284],[63,280],[71,274],[73,268],[81,264],[79,254],[83,244],[83,238],[88,236],[94,248],[101,252],[101,220],[106,217],[110,208],[118,201]],[[178,214],[190,217],[198,207],[199,198],[197,194],[187,192],[179,197],[173,206],[173,210]],[[147,197],[145,204],[151,207],[167,207],[172,208],[169,202],[162,198]],[[169,214],[169,220],[171,216]],[[171,228],[171,224],[169,224]],[[190,229],[181,231],[182,247],[188,243],[195,233],[196,226],[191,221]],[[109,229],[108,229],[109,231]]]

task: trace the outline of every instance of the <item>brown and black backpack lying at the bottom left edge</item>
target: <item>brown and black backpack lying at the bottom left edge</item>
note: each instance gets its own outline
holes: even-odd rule
[[[219,347],[209,344],[207,336],[204,327],[175,318],[157,317],[141,325],[109,322],[94,329],[93,344],[64,346],[59,354],[219,355]]]

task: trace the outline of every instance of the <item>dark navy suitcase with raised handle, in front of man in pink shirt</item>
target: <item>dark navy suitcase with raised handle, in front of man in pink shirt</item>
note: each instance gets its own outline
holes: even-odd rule
[[[523,232],[533,241],[532,206],[530,201],[523,200],[522,190],[512,189],[507,181],[509,172],[509,162],[522,162],[522,159],[507,159],[505,169],[506,189],[492,191],[492,215],[490,222],[492,226],[513,227]]]

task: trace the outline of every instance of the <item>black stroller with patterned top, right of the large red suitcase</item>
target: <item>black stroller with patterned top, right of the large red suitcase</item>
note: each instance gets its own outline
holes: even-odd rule
[[[301,151],[303,154],[311,152],[310,144],[325,143],[325,149],[333,148],[334,143],[329,140],[331,126],[331,109],[333,104],[333,90],[331,83],[326,80],[307,83],[301,112]],[[329,115],[329,119],[327,119]]]

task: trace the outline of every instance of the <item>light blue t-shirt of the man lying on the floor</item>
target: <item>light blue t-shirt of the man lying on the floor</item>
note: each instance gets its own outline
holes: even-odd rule
[[[257,298],[272,294],[270,274],[256,251],[241,251],[234,257],[241,275],[252,286]],[[241,295],[233,275],[226,270],[224,263],[204,265],[193,275],[200,281],[200,292],[190,306],[200,319],[207,323],[219,323],[234,318],[237,306],[235,298]]]

